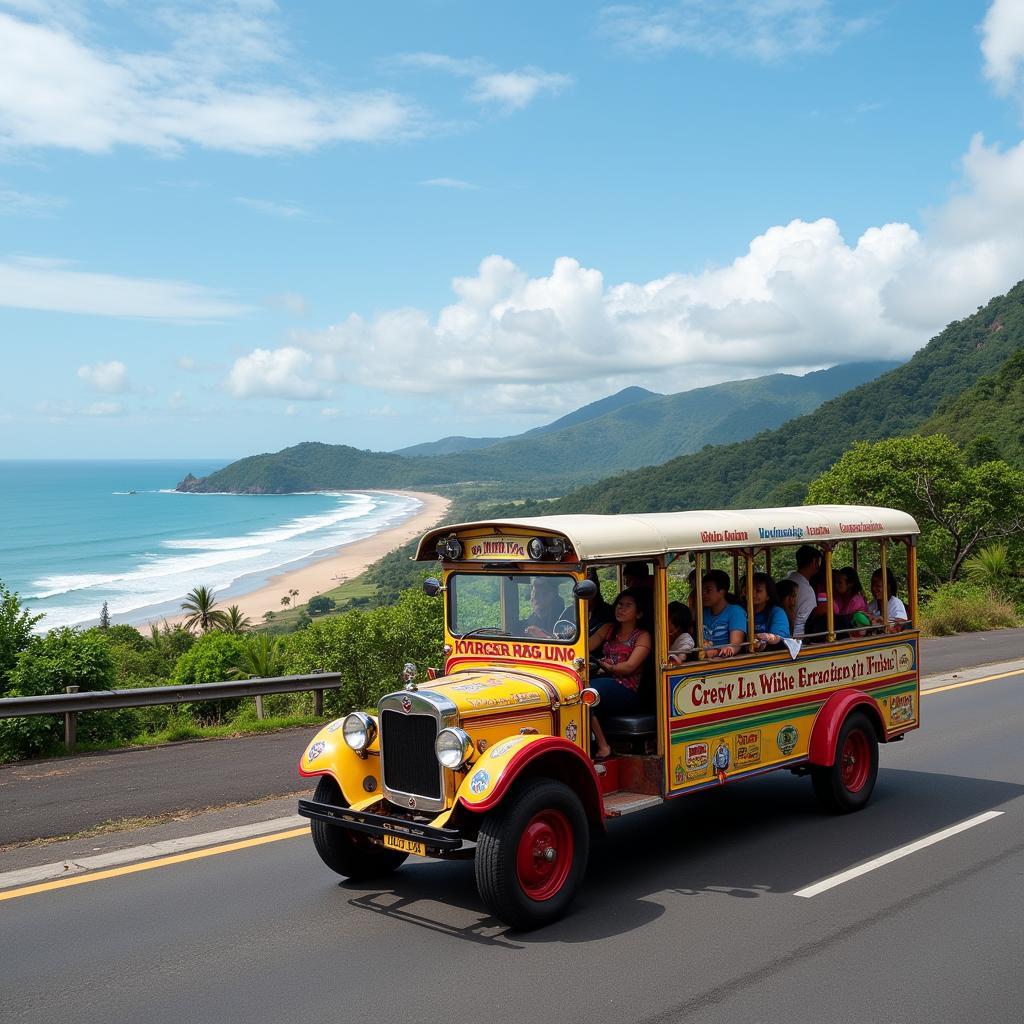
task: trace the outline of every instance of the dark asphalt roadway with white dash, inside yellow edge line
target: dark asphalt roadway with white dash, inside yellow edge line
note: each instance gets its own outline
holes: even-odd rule
[[[339,883],[308,838],[10,900],[0,1021],[1019,1024],[1024,674],[924,701],[865,811],[777,773],[621,819],[530,935],[487,916],[469,863]]]

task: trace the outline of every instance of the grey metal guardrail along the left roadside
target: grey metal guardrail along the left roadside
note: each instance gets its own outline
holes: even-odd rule
[[[240,679],[223,683],[190,683],[185,686],[139,686],[130,690],[87,690],[69,686],[66,693],[36,697],[0,697],[0,718],[35,715],[63,715],[65,745],[75,745],[79,712],[114,711],[119,708],[148,708],[164,703],[193,703],[196,700],[223,700],[228,697],[256,697],[262,718],[261,697],[269,693],[313,691],[313,714],[324,714],[324,691],[341,686],[338,672],[317,672],[309,676],[274,676],[270,679]]]

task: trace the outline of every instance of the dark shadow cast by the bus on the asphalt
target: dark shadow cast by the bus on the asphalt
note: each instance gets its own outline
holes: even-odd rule
[[[1024,794],[1024,785],[883,768],[856,814],[822,812],[809,779],[781,773],[672,801],[610,822],[568,915],[509,931],[476,895],[472,863],[414,862],[385,886],[342,883],[353,907],[505,948],[590,942],[659,918],[676,898],[787,894]]]

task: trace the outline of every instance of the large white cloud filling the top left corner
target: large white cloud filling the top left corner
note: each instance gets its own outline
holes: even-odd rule
[[[61,13],[0,11],[0,146],[265,154],[402,137],[419,119],[401,96],[326,90],[303,70],[266,84],[268,68],[291,73],[270,3],[162,9],[147,26],[171,37],[160,52],[102,48],[96,27]]]

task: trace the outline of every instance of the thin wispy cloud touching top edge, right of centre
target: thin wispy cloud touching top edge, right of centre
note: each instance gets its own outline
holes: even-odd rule
[[[636,56],[689,50],[766,63],[829,52],[869,24],[864,17],[841,17],[830,0],[676,0],[616,4],[600,13],[602,34]]]

